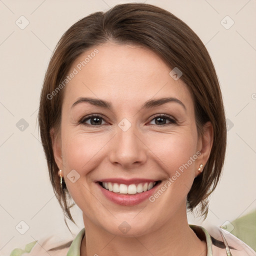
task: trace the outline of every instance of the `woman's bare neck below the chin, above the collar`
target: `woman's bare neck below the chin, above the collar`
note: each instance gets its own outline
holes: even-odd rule
[[[183,213],[183,214],[181,214]],[[81,243],[81,256],[88,255],[141,255],[141,256],[206,256],[206,242],[201,241],[187,222],[186,211],[140,236],[117,236],[94,225],[83,214],[85,235]]]

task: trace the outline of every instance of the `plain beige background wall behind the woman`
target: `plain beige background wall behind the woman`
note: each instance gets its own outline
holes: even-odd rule
[[[87,14],[119,2],[128,1],[0,0],[0,255],[52,234],[57,239],[72,239],[83,227],[81,212],[74,208],[78,227],[69,221],[73,236],[69,233],[49,182],[36,122],[39,94],[62,33]],[[256,208],[256,1],[145,2],[185,21],[212,57],[229,123],[228,146],[207,219],[202,222],[189,215],[189,222],[207,227],[232,221]],[[24,29],[19,27],[21,15],[23,25],[29,21]],[[226,15],[231,19],[224,18]],[[226,29],[232,20],[234,24]],[[29,125],[23,131],[16,126],[21,118]],[[24,234],[15,228],[21,224],[24,231],[20,221],[29,226]]]

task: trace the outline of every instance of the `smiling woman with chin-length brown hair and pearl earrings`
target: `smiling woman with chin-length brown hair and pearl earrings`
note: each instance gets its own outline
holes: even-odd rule
[[[55,195],[73,221],[71,197],[84,222],[73,241],[44,244],[50,255],[253,253],[187,222],[196,206],[207,215],[226,125],[209,54],[173,14],[129,3],[73,24],[49,62],[38,117]]]

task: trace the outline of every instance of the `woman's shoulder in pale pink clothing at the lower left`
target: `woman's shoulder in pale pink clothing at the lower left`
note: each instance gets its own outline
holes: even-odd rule
[[[62,240],[56,242],[54,236],[31,241],[23,248],[14,248],[10,256],[63,256],[66,255],[72,240]]]

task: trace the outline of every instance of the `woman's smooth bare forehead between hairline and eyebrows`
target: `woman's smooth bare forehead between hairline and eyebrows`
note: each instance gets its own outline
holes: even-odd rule
[[[151,98],[171,96],[191,107],[189,90],[181,79],[174,80],[169,75],[170,70],[157,54],[145,47],[98,45],[72,63],[68,74],[75,75],[65,85],[63,104],[71,106],[78,97],[89,96],[111,101],[114,107],[115,103],[116,107],[131,107]]]

